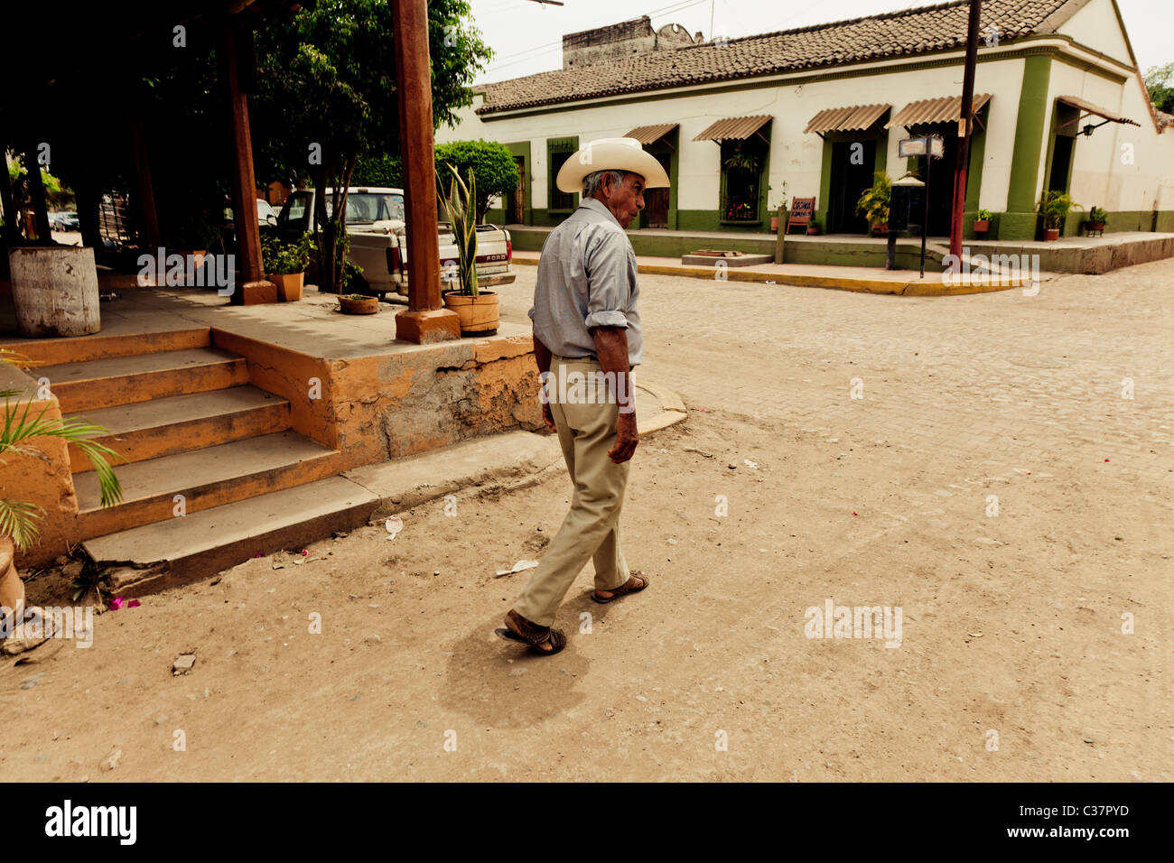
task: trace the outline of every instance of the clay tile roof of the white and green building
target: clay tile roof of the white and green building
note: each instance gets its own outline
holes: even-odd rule
[[[984,40],[991,25],[998,27],[1000,43],[1051,33],[1064,18],[1057,13],[1068,2],[1079,0],[985,0]],[[477,113],[959,48],[966,45],[969,8],[969,0],[951,0],[724,42],[650,50],[630,60],[540,72],[486,85],[485,101]]]

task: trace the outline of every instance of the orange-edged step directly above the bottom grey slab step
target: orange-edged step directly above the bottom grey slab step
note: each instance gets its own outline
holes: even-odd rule
[[[323,479],[342,471],[342,453],[294,431],[261,434],[245,440],[178,452],[121,465],[122,503],[100,505],[97,474],[74,477],[77,524],[82,538],[181,518],[184,512],[244,500],[279,488]]]

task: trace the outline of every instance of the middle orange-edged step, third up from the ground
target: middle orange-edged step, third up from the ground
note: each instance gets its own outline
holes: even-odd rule
[[[92,440],[109,446],[128,463],[290,427],[289,402],[249,385],[133,402],[67,416],[109,429],[110,434]],[[69,445],[69,461],[74,474],[94,470],[74,444]],[[114,461],[115,466],[123,464]]]

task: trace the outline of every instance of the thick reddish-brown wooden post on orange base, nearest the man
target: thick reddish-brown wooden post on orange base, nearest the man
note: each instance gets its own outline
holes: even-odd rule
[[[407,234],[407,310],[396,315],[396,338],[426,344],[460,338],[457,312],[440,298],[427,0],[392,0],[391,9]]]

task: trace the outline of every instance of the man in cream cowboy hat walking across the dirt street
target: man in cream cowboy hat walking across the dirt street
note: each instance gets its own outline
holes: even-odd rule
[[[588,559],[596,602],[648,586],[620,550],[620,510],[635,452],[629,375],[643,342],[636,310],[636,256],[625,229],[645,207],[643,191],[668,175],[630,137],[592,141],[559,170],[562,191],[582,194],[579,209],[542,245],[534,288],[534,358],[544,383],[542,416],[559,434],[574,484],[571,512],[498,635],[535,653],[561,650],[552,628],[562,598]]]

